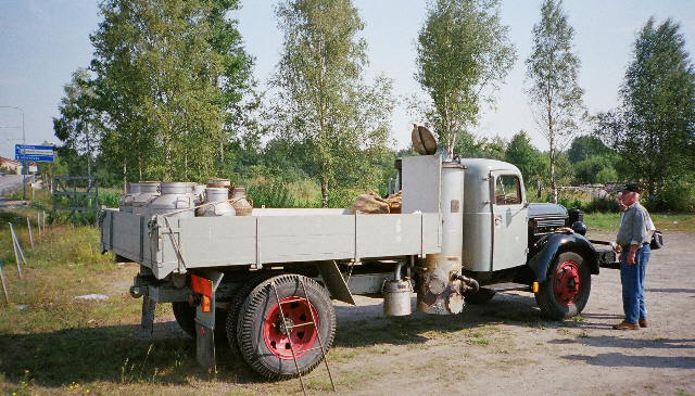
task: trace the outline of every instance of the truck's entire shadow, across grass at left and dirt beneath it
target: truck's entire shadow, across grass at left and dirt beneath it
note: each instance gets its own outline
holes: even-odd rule
[[[502,322],[523,327],[559,325],[559,322],[541,319],[532,296],[514,294],[497,295],[484,305],[467,305],[457,316],[425,315],[414,309],[407,317],[384,317],[378,303],[337,306],[336,311],[333,345],[341,347],[425,343],[429,331],[456,332]],[[94,381],[115,384],[187,384],[205,379],[237,384],[265,382],[242,361],[235,360],[229,346],[220,343],[217,373],[200,367],[195,341],[180,331],[175,321],[156,322],[153,337],[143,336],[138,329],[128,324],[0,334],[0,373],[15,384],[33,381],[47,387]]]

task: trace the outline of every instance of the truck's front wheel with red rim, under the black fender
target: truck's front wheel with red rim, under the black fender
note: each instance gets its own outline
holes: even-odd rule
[[[544,316],[552,319],[570,318],[584,309],[591,293],[591,272],[584,258],[574,252],[557,256],[535,301]]]

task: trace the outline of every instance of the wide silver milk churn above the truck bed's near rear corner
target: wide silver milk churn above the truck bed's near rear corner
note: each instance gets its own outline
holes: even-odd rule
[[[195,183],[174,181],[163,182],[160,186],[161,195],[152,200],[148,205],[148,214],[166,215],[169,219],[194,217],[194,208],[200,201],[193,193]]]

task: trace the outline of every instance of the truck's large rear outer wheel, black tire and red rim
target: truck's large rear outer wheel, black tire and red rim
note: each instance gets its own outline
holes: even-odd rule
[[[300,279],[304,281],[311,305],[306,303]],[[270,283],[275,282],[287,321],[281,320],[278,301]],[[312,312],[318,321],[318,332],[309,323]],[[283,324],[294,328],[289,336]],[[303,374],[318,366],[336,334],[336,311],[326,289],[309,278],[282,274],[263,281],[250,293],[243,304],[237,325],[237,341],[244,360],[253,370],[271,380],[288,380],[298,376],[292,350],[286,338],[293,340],[296,365]]]

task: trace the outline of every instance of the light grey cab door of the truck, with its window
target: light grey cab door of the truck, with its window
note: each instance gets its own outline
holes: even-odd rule
[[[508,171],[491,173],[492,270],[522,266],[528,247],[526,195],[521,176]]]

